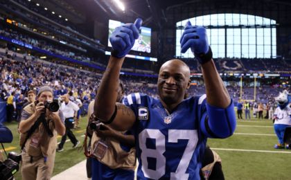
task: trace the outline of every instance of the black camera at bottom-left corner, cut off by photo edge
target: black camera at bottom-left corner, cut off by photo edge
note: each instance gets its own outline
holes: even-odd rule
[[[19,170],[19,162],[21,161],[21,154],[9,152],[5,161],[0,162],[0,179],[13,179],[13,174]]]

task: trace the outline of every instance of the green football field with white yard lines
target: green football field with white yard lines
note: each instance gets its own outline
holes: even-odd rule
[[[80,129],[73,130],[82,142],[87,118],[81,118]],[[19,152],[17,123],[6,124],[14,135],[14,141],[4,144],[8,152]],[[60,137],[58,138],[60,141]],[[238,120],[235,134],[226,139],[209,139],[210,147],[222,159],[226,179],[291,179],[291,150],[274,150],[276,143],[271,120]],[[57,152],[53,175],[85,160],[83,150],[72,149],[70,141],[64,151]],[[81,145],[80,145],[81,147]],[[15,179],[21,179],[17,172]]]

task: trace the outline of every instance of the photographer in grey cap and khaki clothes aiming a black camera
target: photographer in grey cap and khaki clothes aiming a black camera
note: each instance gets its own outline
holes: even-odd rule
[[[23,180],[51,179],[57,135],[65,132],[64,117],[58,111],[58,104],[56,106],[53,104],[53,90],[41,87],[37,101],[22,111],[19,132]]]

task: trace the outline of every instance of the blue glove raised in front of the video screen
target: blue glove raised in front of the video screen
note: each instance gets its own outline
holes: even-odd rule
[[[112,56],[121,58],[130,52],[130,49],[134,46],[135,39],[139,38],[139,28],[141,28],[142,22],[142,19],[137,18],[134,24],[124,24],[115,28],[109,38],[113,48]]]

